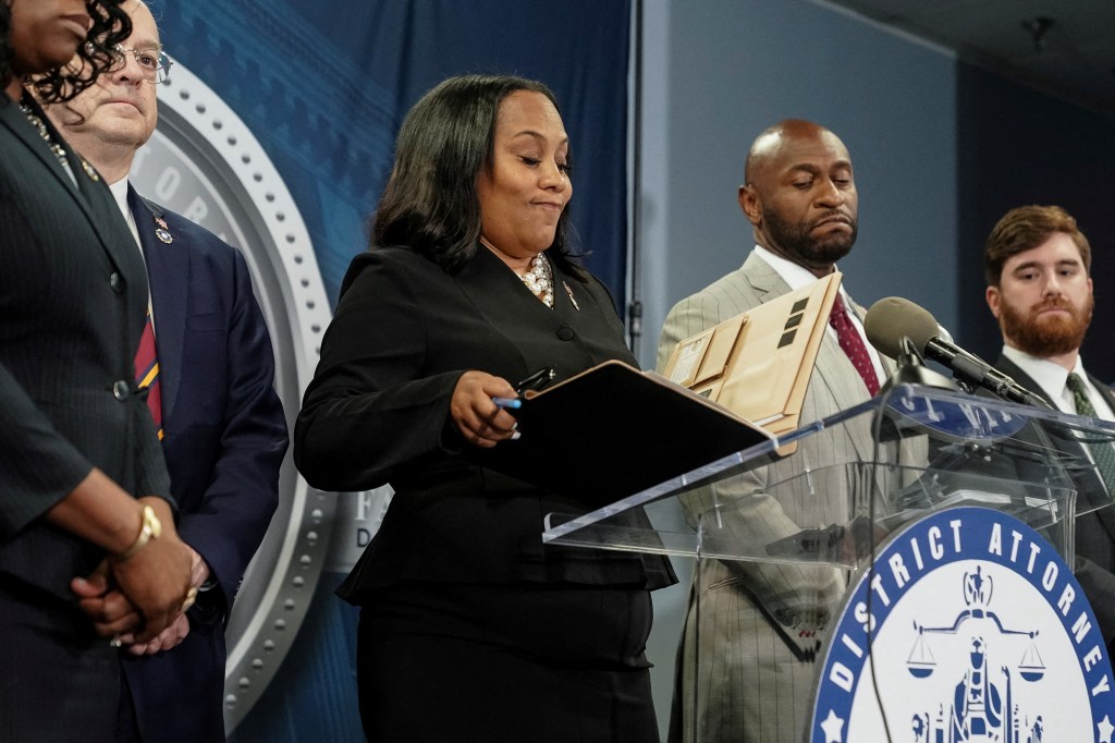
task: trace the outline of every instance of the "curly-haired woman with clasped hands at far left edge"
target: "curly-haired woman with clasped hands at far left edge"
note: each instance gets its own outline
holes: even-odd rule
[[[25,90],[68,100],[115,65],[130,32],[119,2],[0,0],[2,741],[114,740],[115,646],[157,637],[191,600],[133,384],[143,259],[104,181]]]

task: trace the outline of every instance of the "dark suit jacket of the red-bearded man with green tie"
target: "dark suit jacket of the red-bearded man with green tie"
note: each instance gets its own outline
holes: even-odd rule
[[[1056,407],[1041,386],[1006,356],[1000,356],[995,363],[997,369],[1010,376],[1018,384],[1040,396]],[[1092,384],[1103,395],[1107,405],[1115,411],[1115,395],[1099,379],[1088,375]],[[1078,444],[1067,440],[1058,440],[1065,451],[1072,451]],[[1086,457],[1084,452],[1082,457]],[[1086,470],[1074,475],[1077,489],[1077,503],[1096,508],[1109,500],[1103,482],[1094,470]],[[1115,509],[1107,505],[1092,513],[1085,513],[1076,519],[1076,579],[1096,614],[1099,629],[1108,647],[1115,643]]]

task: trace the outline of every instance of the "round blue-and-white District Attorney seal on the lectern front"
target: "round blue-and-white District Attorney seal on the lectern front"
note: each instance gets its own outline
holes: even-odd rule
[[[823,649],[813,743],[1112,743],[1104,637],[1073,571],[983,506],[904,527]]]

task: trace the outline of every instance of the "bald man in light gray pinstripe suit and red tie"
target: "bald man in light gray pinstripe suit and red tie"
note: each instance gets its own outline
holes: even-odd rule
[[[852,250],[855,181],[847,149],[832,132],[797,119],[772,126],[752,145],[745,181],[739,205],[755,248],[741,268],[673,307],[659,342],[659,369],[680,340],[827,276]],[[843,288],[841,293],[865,347],[860,368],[828,330],[803,422],[864,402],[891,370],[863,337],[862,310]],[[803,527],[846,521],[847,471],[832,465],[875,456],[869,422],[854,419],[811,436],[775,464],[681,500],[695,527],[716,509],[719,524],[740,539],[789,537]],[[795,480],[805,472],[808,479]],[[776,483],[786,481],[792,484],[779,493]],[[822,607],[840,600],[845,573],[708,560],[698,575],[679,649],[670,740],[799,743],[815,685],[813,658],[827,620]]]

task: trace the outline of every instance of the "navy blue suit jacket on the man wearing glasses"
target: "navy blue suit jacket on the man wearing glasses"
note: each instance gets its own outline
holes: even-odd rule
[[[151,281],[178,534],[213,587],[198,594],[182,645],[123,655],[125,672],[145,743],[223,741],[224,627],[279,503],[287,421],[243,255],[130,186],[128,205]]]

